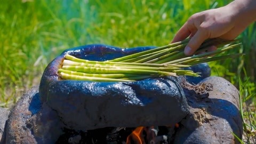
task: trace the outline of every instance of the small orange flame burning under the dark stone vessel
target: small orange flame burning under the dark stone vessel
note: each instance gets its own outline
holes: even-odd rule
[[[144,144],[146,143],[143,138],[143,126],[137,127],[126,139],[126,144],[131,143],[138,143],[138,144]]]

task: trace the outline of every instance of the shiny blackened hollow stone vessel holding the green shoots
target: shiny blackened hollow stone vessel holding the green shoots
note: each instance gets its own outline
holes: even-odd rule
[[[174,125],[188,114],[188,105],[181,87],[172,77],[114,83],[61,80],[58,75],[67,53],[102,61],[147,49],[151,47],[119,49],[86,45],[67,50],[46,67],[39,87],[40,97],[58,112],[68,129]]]

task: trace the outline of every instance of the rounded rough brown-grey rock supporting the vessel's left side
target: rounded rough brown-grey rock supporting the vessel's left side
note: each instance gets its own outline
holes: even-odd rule
[[[6,143],[54,143],[62,134],[61,127],[57,113],[41,102],[35,86],[11,110]]]

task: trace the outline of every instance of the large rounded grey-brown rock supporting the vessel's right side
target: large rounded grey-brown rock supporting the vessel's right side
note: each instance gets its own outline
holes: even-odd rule
[[[238,90],[221,77],[185,86],[190,114],[181,121],[174,143],[239,143],[243,126]]]

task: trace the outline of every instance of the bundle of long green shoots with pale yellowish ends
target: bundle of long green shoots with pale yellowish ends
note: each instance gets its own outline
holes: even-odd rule
[[[207,39],[195,55],[190,57],[183,53],[189,39],[107,61],[78,59],[66,54],[59,74],[62,79],[94,82],[134,82],[150,77],[199,76],[198,73],[183,68],[203,62],[240,57],[242,54],[239,53],[215,56],[240,47],[241,43],[231,44],[236,41]],[[207,47],[211,45],[217,46],[218,49],[206,52]]]

